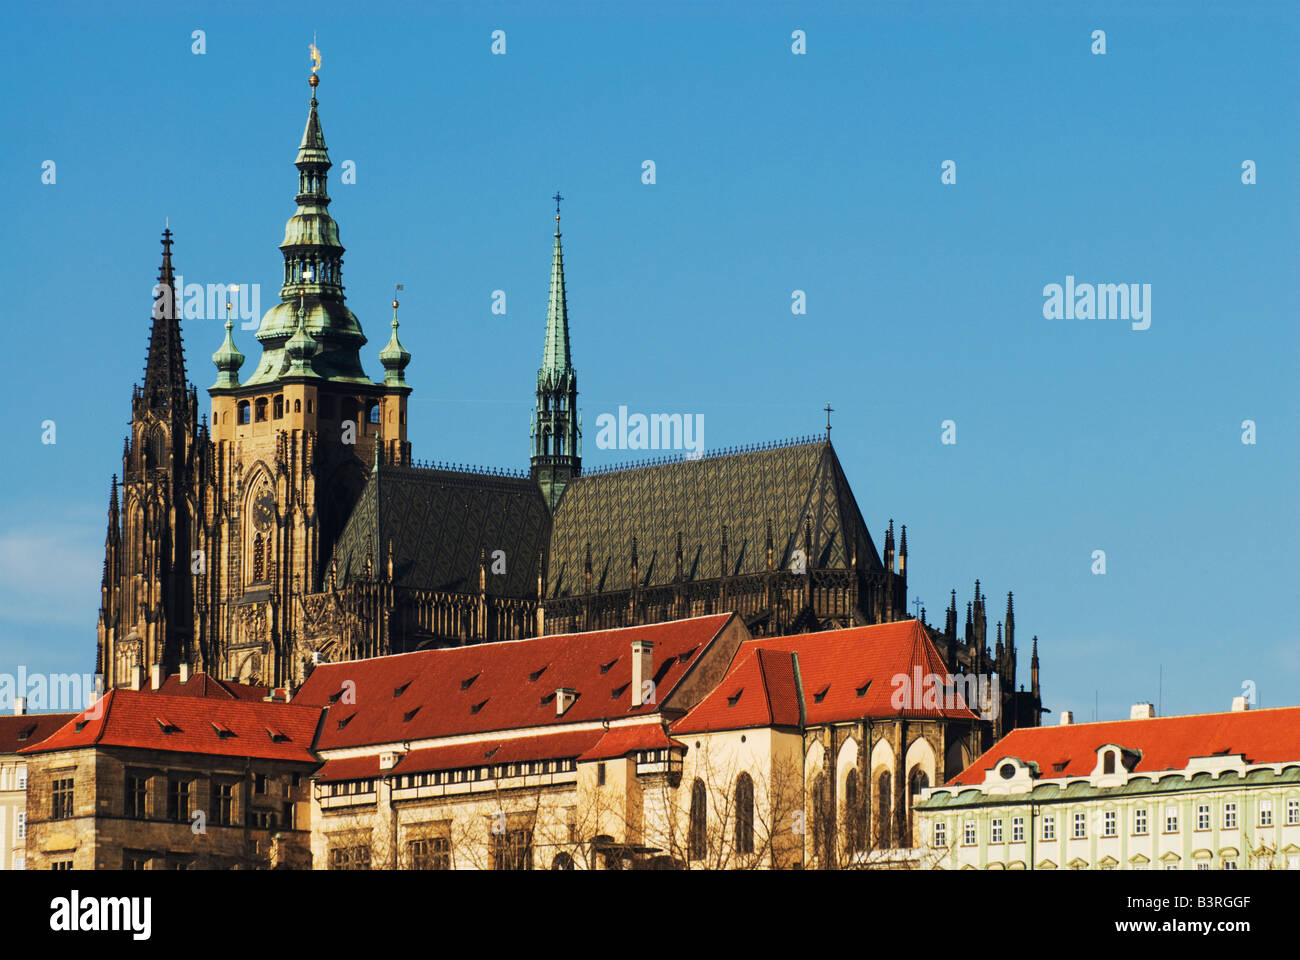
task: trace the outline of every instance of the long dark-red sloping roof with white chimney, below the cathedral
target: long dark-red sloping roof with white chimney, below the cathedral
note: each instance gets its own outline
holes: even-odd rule
[[[732,615],[322,663],[292,702],[328,708],[322,751],[653,715]],[[654,643],[656,702],[638,708],[633,640]],[[562,717],[558,687],[577,691]]]

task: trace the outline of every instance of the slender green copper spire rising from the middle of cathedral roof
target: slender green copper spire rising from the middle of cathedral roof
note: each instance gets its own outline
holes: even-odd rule
[[[560,200],[555,194],[555,252],[546,307],[546,343],[537,371],[533,412],[532,476],[554,511],[569,480],[582,472],[582,421],[577,411],[577,372],[569,358],[568,303],[564,299],[564,252],[560,250]]]

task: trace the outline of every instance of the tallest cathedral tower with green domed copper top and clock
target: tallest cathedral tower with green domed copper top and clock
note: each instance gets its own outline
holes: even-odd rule
[[[213,355],[212,442],[220,522],[200,605],[213,611],[222,676],[286,683],[299,598],[321,589],[330,553],[373,464],[408,463],[404,369],[396,336],[380,354],[382,384],[361,369],[365,334],[343,295],[343,246],[329,215],[329,153],[316,86],[298,148],[298,209],[280,245],[280,303],[243,356],[226,323]]]

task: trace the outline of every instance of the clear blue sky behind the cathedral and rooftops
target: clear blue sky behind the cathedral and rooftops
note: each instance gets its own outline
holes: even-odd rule
[[[406,286],[416,457],[526,466],[559,189],[589,466],[633,455],[590,442],[619,403],[716,447],[829,401],[913,597],[941,623],[980,578],[992,632],[1014,589],[1053,710],[1300,701],[1292,5],[312,7],[0,14],[0,673],[94,667],[164,217],[187,281],[273,306],[316,31],[348,303],[378,376]],[[1150,284],[1150,329],[1045,320],[1067,274]],[[185,325],[200,390],[221,336]]]

